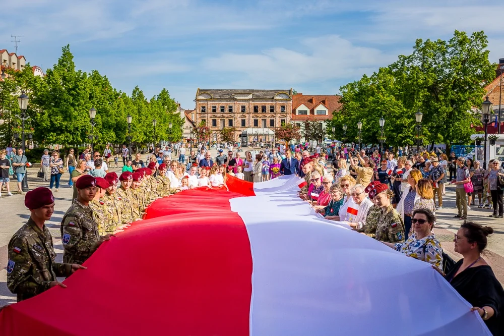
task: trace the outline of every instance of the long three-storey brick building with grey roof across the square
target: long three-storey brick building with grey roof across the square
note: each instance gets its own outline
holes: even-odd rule
[[[234,141],[274,141],[277,127],[290,123],[292,89],[196,91],[196,124],[205,122],[212,132],[211,141],[220,141],[219,130],[234,127]],[[241,139],[242,132],[245,132]],[[255,135],[254,135],[255,134]]]

